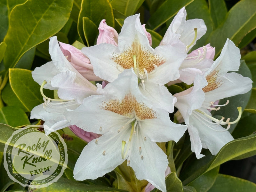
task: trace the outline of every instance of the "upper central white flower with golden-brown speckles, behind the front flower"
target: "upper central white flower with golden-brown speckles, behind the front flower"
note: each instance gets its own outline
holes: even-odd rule
[[[180,77],[178,69],[187,54],[171,45],[158,46],[155,50],[150,47],[139,16],[124,20],[118,47],[105,43],[84,47],[82,52],[91,60],[95,75],[108,82],[114,81],[125,69],[133,68],[140,92],[157,108],[173,112],[176,100],[162,85]]]

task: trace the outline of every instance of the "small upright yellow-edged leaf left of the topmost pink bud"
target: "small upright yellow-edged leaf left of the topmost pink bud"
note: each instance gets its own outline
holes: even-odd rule
[[[83,28],[87,45],[93,45],[99,33],[97,26],[88,17],[83,17]]]

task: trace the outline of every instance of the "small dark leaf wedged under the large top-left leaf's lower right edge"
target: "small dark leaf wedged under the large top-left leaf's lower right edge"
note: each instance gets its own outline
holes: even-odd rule
[[[35,53],[36,47],[29,49],[27,52],[24,53],[24,55],[21,56],[15,68],[23,68],[30,70],[34,61]]]

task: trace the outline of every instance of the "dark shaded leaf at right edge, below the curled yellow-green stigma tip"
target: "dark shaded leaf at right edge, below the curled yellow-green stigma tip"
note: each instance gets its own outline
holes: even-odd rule
[[[244,116],[245,112],[243,113]],[[238,124],[236,125],[236,129],[232,133],[232,136],[237,139],[240,137],[245,137],[247,135],[251,135],[256,132],[256,114],[248,113],[247,116],[244,116],[240,119]]]

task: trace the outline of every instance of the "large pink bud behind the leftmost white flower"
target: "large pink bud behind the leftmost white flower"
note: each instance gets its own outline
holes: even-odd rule
[[[59,42],[59,44],[60,49],[66,56],[67,60],[82,76],[89,81],[102,81],[100,77],[97,77],[94,74],[90,59],[86,57],[84,53],[70,44],[61,42]]]

